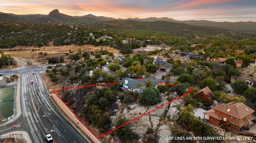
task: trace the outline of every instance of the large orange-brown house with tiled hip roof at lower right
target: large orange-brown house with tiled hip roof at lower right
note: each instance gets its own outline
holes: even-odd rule
[[[250,128],[252,120],[255,119],[253,113],[255,111],[243,104],[242,102],[230,102],[227,106],[216,104],[212,109],[204,112],[209,116],[209,123],[216,126],[227,125],[234,129],[241,129],[243,127]]]

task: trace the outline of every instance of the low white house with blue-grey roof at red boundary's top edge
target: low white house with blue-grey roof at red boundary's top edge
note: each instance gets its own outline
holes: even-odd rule
[[[142,90],[140,88],[137,88],[136,85],[138,82],[142,82],[145,83],[147,80],[147,78],[138,78],[138,79],[134,79],[134,78],[124,78],[122,80],[120,80],[120,85],[122,86],[122,89],[124,90],[130,90],[132,92],[138,91],[139,93],[142,92]],[[152,80],[153,81],[153,85],[156,86],[158,85],[158,82],[156,80]]]

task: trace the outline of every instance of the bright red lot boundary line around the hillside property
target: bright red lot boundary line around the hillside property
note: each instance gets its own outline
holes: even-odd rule
[[[107,83],[107,85],[110,85],[110,84],[119,84],[119,83],[118,83],[118,82]],[[162,82],[158,82],[158,84],[164,84],[164,85],[170,85],[170,86],[178,86],[178,85],[175,85],[175,84],[167,84],[167,83],[162,83]],[[55,90],[55,91],[53,91],[53,93],[56,94],[56,96],[62,101],[62,99],[58,96],[58,94],[57,94],[56,92],[59,92],[59,91],[62,91],[62,90],[66,90],[66,89],[70,89],[70,88],[82,88],[82,87],[89,87],[89,86],[96,86],[96,84],[91,84],[91,85],[86,85],[86,86],[79,86],[79,87],[64,88],[64,89],[60,89],[60,90]],[[180,96],[180,97],[178,97],[178,98],[175,98],[174,100],[172,100],[172,101],[170,101],[170,102],[167,102],[166,104],[163,104],[162,106],[159,106],[158,108],[155,108],[154,110],[151,110],[150,112],[147,112],[147,113],[143,114],[142,116],[145,116],[145,115],[147,115],[147,114],[149,114],[149,113],[151,113],[151,112],[153,112],[153,111],[155,111],[155,110],[158,110],[159,108],[161,108],[161,107],[163,107],[163,106],[166,106],[167,104],[169,104],[169,103],[171,103],[171,102],[173,102],[173,101],[175,101],[175,100],[177,100],[177,99],[179,99],[179,98],[182,98],[183,96],[185,96],[185,95],[190,94],[191,92],[193,92],[193,90],[190,90],[190,89],[188,89],[188,91],[189,91],[189,92],[183,94],[182,96]],[[62,101],[62,103],[63,103],[64,105],[66,105],[63,101]],[[94,133],[84,124],[84,122],[83,122],[80,118],[78,118],[78,116],[77,116],[67,105],[66,105],[66,107],[67,107],[67,108],[72,112],[72,114],[74,114],[74,116],[90,131],[90,133],[92,133],[92,135],[94,135]],[[98,138],[100,138],[100,137],[102,137],[102,136],[104,136],[104,135],[106,135],[106,134],[108,134],[108,133],[111,133],[112,131],[115,131],[116,129],[118,129],[118,128],[124,126],[124,125],[127,125],[128,123],[131,123],[132,121],[135,121],[135,120],[138,119],[138,118],[141,118],[142,116],[139,116],[139,117],[137,117],[137,118],[135,118],[135,119],[132,119],[131,121],[128,121],[127,123],[124,123],[123,125],[120,125],[119,127],[116,127],[115,129],[112,129],[111,131],[108,131],[107,133],[104,133],[104,134],[102,134],[102,135],[100,135],[100,136],[98,136],[98,137],[96,137],[96,135],[94,135],[94,137],[96,137],[96,138],[98,139]]]

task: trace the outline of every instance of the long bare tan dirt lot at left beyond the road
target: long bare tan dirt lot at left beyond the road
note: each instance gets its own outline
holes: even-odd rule
[[[52,43],[49,44],[48,47],[14,47],[12,49],[2,49],[6,55],[11,55],[17,61],[24,61],[24,63],[32,62],[33,65],[38,64],[38,62],[45,63],[48,57],[55,57],[55,56],[63,56],[66,62],[70,62],[69,56],[73,53],[77,53],[79,49],[81,49],[82,53],[88,52],[90,53],[93,51],[100,51],[102,48],[103,50],[107,50],[109,52],[113,52],[115,57],[118,55],[122,55],[119,53],[118,50],[112,47],[104,47],[98,46],[95,47],[94,45],[67,45],[67,46],[60,46],[54,47]],[[68,54],[68,55],[66,55]]]

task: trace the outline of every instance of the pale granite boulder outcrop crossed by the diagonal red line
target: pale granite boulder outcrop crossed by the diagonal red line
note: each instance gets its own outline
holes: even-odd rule
[[[114,125],[119,118],[124,118],[127,121],[137,118],[129,123],[129,127],[132,129],[132,131],[138,133],[140,139],[145,139],[148,127],[152,127],[158,136],[158,142],[168,143],[170,140],[167,140],[167,137],[172,137],[172,131],[170,127],[164,123],[165,121],[173,121],[179,117],[180,111],[176,108],[176,106],[184,106],[184,101],[182,99],[178,99],[174,102],[167,103],[168,101],[166,98],[162,98],[160,103],[156,105],[145,107],[138,104],[130,104],[125,108],[122,106],[119,100],[117,101],[119,110],[116,110],[115,116],[110,117],[112,121],[112,128],[114,128]],[[162,106],[164,104],[166,105]]]

